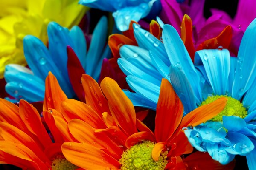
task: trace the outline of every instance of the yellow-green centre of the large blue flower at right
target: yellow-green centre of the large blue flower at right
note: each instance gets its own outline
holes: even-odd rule
[[[201,103],[200,106],[209,104],[218,98],[226,97],[227,98],[227,105],[224,110],[219,113],[217,116],[213,117],[211,121],[219,121],[222,122],[222,116],[239,116],[244,118],[247,116],[246,108],[244,108],[243,104],[239,102],[237,99],[234,99],[230,96],[224,95],[216,95],[216,96],[209,96],[204,102]]]

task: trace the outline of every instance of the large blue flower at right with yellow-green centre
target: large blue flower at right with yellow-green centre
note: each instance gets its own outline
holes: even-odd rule
[[[238,57],[226,49],[201,50],[195,65],[175,28],[163,27],[163,43],[148,31],[134,25],[139,47],[123,45],[119,67],[127,75],[125,91],[134,105],[155,108],[162,77],[169,79],[184,105],[184,114],[221,96],[227,106],[209,122],[185,130],[191,144],[207,151],[222,164],[234,155],[247,157],[248,166],[256,168],[256,19],[241,41]],[[223,121],[223,122],[222,122]]]

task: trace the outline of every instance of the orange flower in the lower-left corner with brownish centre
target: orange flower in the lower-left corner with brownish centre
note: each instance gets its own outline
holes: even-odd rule
[[[52,111],[49,113],[44,114],[47,122],[60,116]],[[55,124],[48,125],[51,125],[55,143],[31,104],[20,100],[18,107],[0,99],[0,164],[12,164],[25,170],[77,169],[61,153],[63,142],[76,140],[65,140]]]

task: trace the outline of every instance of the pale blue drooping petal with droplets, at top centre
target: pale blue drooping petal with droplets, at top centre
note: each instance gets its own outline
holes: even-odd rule
[[[141,18],[147,16],[149,11],[149,4],[141,3],[139,6],[121,8],[113,13],[113,17],[117,28],[120,31],[127,31],[131,20],[138,22]]]

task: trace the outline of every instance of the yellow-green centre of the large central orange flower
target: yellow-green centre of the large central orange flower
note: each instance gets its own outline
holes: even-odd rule
[[[164,170],[167,164],[166,154],[154,161],[151,156],[154,145],[154,142],[144,141],[127,149],[119,159],[121,170]]]

